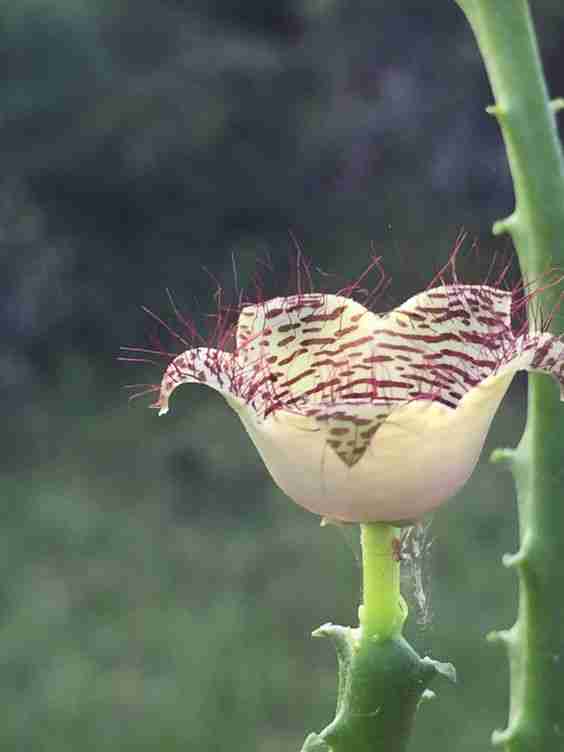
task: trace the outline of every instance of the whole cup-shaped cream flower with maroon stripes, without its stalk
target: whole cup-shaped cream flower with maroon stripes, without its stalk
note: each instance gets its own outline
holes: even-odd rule
[[[458,282],[383,315],[342,295],[274,298],[241,309],[232,352],[175,357],[156,406],[166,413],[180,384],[207,384],[301,506],[413,521],[466,482],[517,371],[564,385],[564,344],[514,331],[514,309],[510,291]]]

